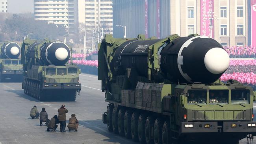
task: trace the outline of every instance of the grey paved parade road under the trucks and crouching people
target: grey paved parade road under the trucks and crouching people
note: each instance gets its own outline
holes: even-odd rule
[[[102,123],[107,103],[97,76],[81,74],[80,81],[83,86],[76,102],[39,102],[25,95],[20,83],[0,83],[0,144],[138,144],[109,133]],[[47,127],[40,127],[39,120],[29,116],[30,109],[37,105],[39,111],[45,107],[51,118],[62,103],[69,110],[67,117],[76,114],[78,132],[46,132]],[[254,106],[256,109],[256,103]],[[246,144],[246,139],[240,144]]]

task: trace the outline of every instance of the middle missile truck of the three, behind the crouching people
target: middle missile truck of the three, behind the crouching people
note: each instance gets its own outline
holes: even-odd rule
[[[81,90],[80,69],[72,63],[72,48],[60,41],[25,39],[21,48],[24,93],[38,100],[75,101]],[[70,64],[69,64],[70,60]]]

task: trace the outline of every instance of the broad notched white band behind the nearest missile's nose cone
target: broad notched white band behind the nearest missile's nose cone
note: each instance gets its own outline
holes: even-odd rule
[[[190,38],[189,40],[187,40],[182,46],[181,46],[181,48],[180,48],[180,51],[179,51],[179,53],[178,53],[178,58],[177,58],[177,64],[178,64],[178,68],[179,68],[179,71],[180,71],[180,74],[182,75],[182,77],[184,78],[184,79],[186,79],[189,83],[192,83],[192,79],[186,74],[186,73],[184,73],[183,71],[182,71],[182,68],[181,68],[181,65],[183,65],[183,55],[181,55],[181,53],[182,53],[182,51],[183,51],[183,49],[184,48],[187,48],[188,46],[189,46],[189,44],[191,44],[193,41],[193,39],[196,39],[196,38],[198,38],[198,37],[200,37],[200,38],[207,38],[207,39],[209,39],[210,37],[206,37],[206,36],[196,36],[196,37],[192,37],[192,38]]]

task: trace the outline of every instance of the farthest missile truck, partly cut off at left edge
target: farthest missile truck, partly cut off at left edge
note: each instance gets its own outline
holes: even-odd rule
[[[0,43],[0,81],[23,81],[20,46],[16,42]]]

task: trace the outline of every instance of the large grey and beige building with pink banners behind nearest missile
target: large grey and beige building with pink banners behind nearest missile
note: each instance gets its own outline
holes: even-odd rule
[[[126,26],[127,37],[198,33],[223,46],[248,45],[248,0],[205,1],[113,0],[113,25]],[[121,28],[113,29],[114,37],[122,37]]]

